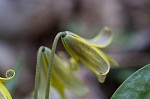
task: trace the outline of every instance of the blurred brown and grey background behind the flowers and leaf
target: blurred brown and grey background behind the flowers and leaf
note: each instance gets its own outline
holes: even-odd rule
[[[0,76],[10,68],[18,71],[10,88],[13,99],[32,99],[40,46],[51,48],[60,31],[92,38],[104,26],[112,29],[114,40],[102,50],[120,67],[111,68],[100,84],[83,66],[78,75],[90,93],[79,97],[68,91],[68,99],[109,99],[130,74],[150,63],[150,0],[0,0]],[[65,51],[61,42],[60,50]],[[55,92],[52,97],[59,99]]]

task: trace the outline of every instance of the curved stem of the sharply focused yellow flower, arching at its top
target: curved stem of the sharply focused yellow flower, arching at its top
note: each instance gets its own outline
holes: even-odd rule
[[[49,92],[50,92],[50,77],[52,74],[52,69],[53,69],[53,60],[54,60],[54,54],[56,50],[56,46],[58,43],[58,40],[61,36],[65,36],[65,32],[60,32],[56,35],[53,45],[52,45],[52,51],[51,51],[51,56],[50,56],[50,64],[48,66],[48,73],[47,73],[47,82],[46,82],[46,94],[45,94],[45,99],[49,99]]]

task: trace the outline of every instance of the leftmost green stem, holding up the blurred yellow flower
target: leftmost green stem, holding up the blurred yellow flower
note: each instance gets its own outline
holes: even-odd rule
[[[36,64],[36,74],[35,74],[35,86],[34,86],[34,99],[38,97],[38,87],[40,82],[40,70],[41,70],[41,51],[43,47],[40,47],[37,53],[37,64]]]

